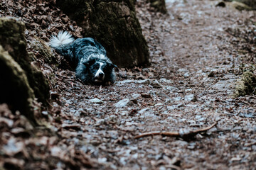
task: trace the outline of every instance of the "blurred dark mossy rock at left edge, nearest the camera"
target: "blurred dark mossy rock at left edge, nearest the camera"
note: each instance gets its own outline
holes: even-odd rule
[[[20,111],[33,120],[33,89],[29,86],[26,73],[1,45],[0,77],[0,103],[7,103],[11,111]]]

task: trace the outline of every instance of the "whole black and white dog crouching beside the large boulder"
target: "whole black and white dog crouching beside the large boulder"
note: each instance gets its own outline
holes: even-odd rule
[[[93,38],[74,40],[67,31],[60,31],[49,42],[56,52],[76,67],[75,75],[85,84],[110,85],[116,80],[114,67],[105,48]]]

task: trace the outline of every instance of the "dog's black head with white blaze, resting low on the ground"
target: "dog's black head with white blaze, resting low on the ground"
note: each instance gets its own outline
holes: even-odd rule
[[[90,59],[83,63],[86,67],[90,81],[94,84],[102,84],[107,81],[112,81],[112,72],[115,64],[107,62],[105,60]]]

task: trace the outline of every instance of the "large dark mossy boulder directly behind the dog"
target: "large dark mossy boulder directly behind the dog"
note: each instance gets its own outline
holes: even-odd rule
[[[58,6],[95,38],[119,67],[149,62],[149,50],[136,18],[134,0],[57,0]]]

